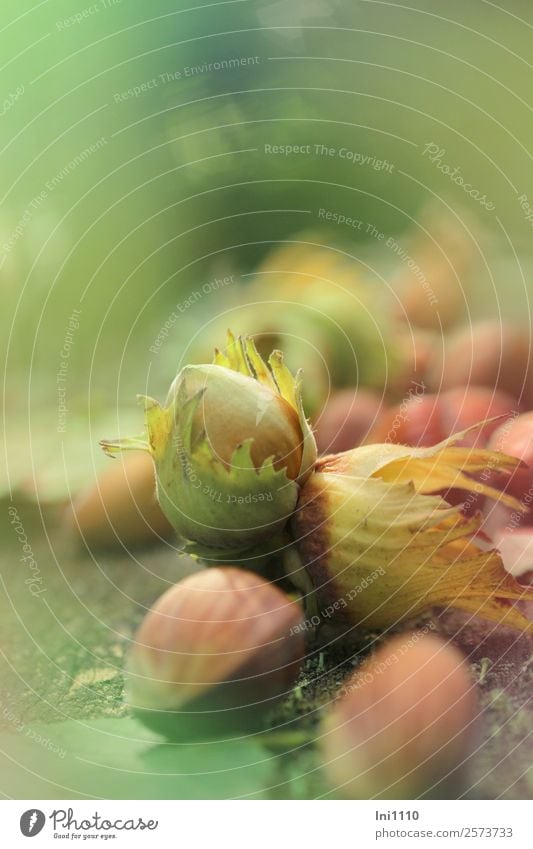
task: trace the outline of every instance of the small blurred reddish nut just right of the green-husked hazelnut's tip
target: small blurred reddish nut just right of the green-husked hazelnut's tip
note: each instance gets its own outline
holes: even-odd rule
[[[381,398],[370,389],[335,392],[315,422],[319,454],[348,451],[360,445],[375,424]]]

